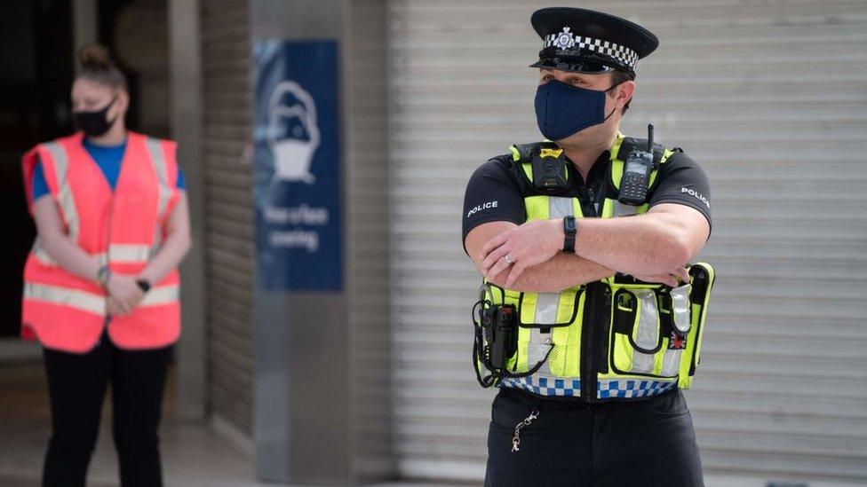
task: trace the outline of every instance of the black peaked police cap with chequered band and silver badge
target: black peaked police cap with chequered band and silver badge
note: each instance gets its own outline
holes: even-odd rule
[[[615,69],[634,77],[635,65],[659,45],[648,29],[604,12],[549,7],[530,20],[544,44],[530,67],[572,73],[608,73]]]

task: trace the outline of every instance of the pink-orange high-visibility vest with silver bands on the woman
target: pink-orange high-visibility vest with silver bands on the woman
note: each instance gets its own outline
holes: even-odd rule
[[[161,246],[164,224],[179,200],[176,144],[128,132],[113,192],[83,137],[62,137],[24,155],[28,207],[33,213],[33,172],[41,161],[68,237],[113,273],[135,277]],[[180,334],[179,286],[179,272],[172,269],[130,313],[107,317],[107,291],[60,267],[37,236],[24,267],[21,336],[46,348],[85,353],[107,325],[120,348],[163,347]]]

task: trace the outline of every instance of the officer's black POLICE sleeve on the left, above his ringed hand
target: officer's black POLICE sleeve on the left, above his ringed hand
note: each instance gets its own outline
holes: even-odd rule
[[[491,159],[473,172],[464,195],[463,239],[480,224],[527,220],[521,191],[499,158]],[[466,252],[466,246],[464,246]]]

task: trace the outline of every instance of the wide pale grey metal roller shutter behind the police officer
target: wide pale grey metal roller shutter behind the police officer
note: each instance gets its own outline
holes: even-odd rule
[[[623,130],[683,147],[712,181],[719,280],[688,400],[711,474],[867,480],[867,4],[632,1]],[[537,139],[541,2],[390,4],[394,428],[402,475],[479,479],[490,391],[470,365],[479,278],[460,245],[473,169]]]

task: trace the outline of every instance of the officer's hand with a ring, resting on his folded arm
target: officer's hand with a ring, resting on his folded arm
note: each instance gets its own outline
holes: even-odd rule
[[[510,267],[505,260],[509,255],[513,264],[505,280],[505,287],[511,287],[529,267],[544,263],[557,255],[563,248],[563,220],[537,220],[518,225],[503,232],[481,247],[484,275],[491,279]]]

